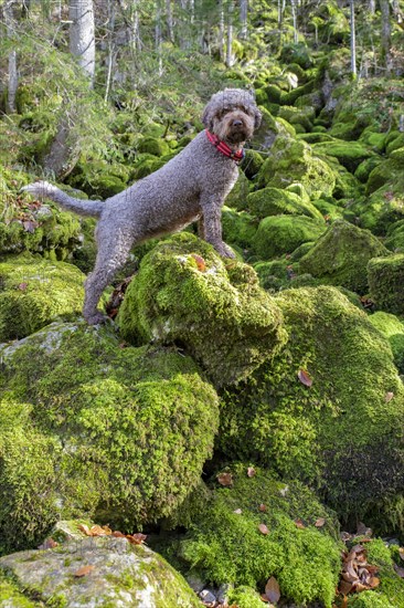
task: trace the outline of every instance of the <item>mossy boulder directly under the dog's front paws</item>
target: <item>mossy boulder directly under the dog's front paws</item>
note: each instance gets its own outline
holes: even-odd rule
[[[245,378],[285,342],[254,270],[181,233],[148,253],[119,311],[123,336],[185,348],[216,386]]]

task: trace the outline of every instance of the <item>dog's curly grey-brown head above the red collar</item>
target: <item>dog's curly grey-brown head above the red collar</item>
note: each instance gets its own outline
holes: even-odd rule
[[[230,145],[251,139],[259,127],[262,114],[253,95],[243,88],[225,88],[212,95],[202,123],[220,139]]]

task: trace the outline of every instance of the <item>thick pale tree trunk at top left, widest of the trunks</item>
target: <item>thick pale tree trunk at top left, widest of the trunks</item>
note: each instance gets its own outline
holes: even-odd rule
[[[91,87],[95,74],[95,34],[93,0],[70,0],[70,50],[88,75]]]

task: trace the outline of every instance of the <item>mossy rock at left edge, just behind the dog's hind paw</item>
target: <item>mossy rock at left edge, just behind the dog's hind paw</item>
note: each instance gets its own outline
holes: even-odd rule
[[[84,279],[76,266],[40,255],[0,261],[0,342],[23,338],[56,316],[78,313]]]

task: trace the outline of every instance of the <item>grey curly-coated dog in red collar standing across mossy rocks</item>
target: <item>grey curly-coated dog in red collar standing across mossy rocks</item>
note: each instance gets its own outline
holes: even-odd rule
[[[39,181],[24,188],[70,211],[98,217],[97,259],[85,282],[83,315],[105,319],[98,301],[134,244],[181,230],[199,220],[199,233],[224,256],[234,254],[222,240],[221,209],[237,180],[244,143],[259,126],[261,113],[248,91],[226,88],[212,96],[202,115],[206,130],[155,174],[105,202],[78,200]]]

